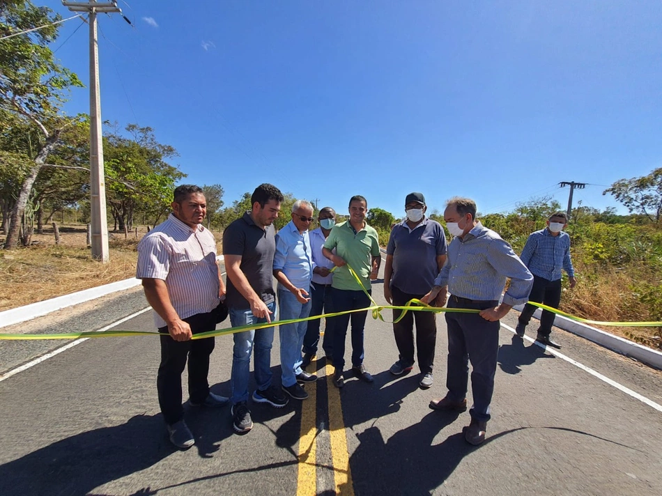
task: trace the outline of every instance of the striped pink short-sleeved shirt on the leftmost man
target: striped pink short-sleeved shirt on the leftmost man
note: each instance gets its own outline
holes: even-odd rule
[[[219,303],[214,235],[170,214],[138,243],[137,279],[162,279],[179,318],[206,313]],[[166,324],[154,312],[156,327]]]

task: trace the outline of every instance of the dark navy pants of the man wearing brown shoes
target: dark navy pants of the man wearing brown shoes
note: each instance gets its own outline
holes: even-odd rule
[[[466,300],[452,295],[448,300],[449,309],[494,308],[498,301]],[[500,322],[489,322],[477,313],[446,313],[448,328],[448,370],[446,387],[453,401],[462,401],[467,394],[469,377],[468,362],[471,361],[471,389],[474,404],[469,410],[472,419],[488,421],[490,403],[494,392],[499,353]]]

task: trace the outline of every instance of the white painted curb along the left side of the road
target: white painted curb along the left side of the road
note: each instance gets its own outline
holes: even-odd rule
[[[217,256],[216,259],[222,261],[223,256]],[[8,325],[20,324],[36,317],[45,316],[56,310],[72,307],[73,305],[95,300],[96,298],[134,288],[139,285],[140,279],[132,277],[130,279],[124,279],[123,281],[97,286],[96,288],[77,291],[70,295],[58,296],[56,298],[51,298],[50,300],[44,300],[43,302],[31,303],[24,307],[5,310],[0,312],[0,328],[7,327]]]

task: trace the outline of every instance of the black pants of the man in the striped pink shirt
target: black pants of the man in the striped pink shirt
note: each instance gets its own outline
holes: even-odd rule
[[[211,313],[197,313],[182,319],[191,326],[193,334],[213,331],[216,322]],[[159,332],[167,334],[168,327]],[[166,424],[175,424],[184,417],[182,407],[182,372],[188,357],[188,392],[191,401],[202,403],[209,394],[207,373],[209,355],[214,350],[214,338],[195,341],[175,341],[169,335],[160,336],[161,364],[156,380],[159,405]]]

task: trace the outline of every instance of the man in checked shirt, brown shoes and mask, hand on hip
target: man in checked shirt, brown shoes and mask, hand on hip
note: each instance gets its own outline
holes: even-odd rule
[[[485,440],[490,403],[494,391],[499,352],[499,320],[516,304],[527,302],[533,276],[500,235],[476,219],[476,203],[456,196],[447,202],[446,227],[454,238],[448,245],[448,260],[434,281],[432,290],[421,298],[436,307],[475,309],[479,313],[447,312],[448,361],[444,398],[433,399],[433,410],[467,408],[468,363],[471,361],[471,389],[474,404],[470,424],[463,429],[469,444]],[[503,295],[506,278],[510,286]]]

